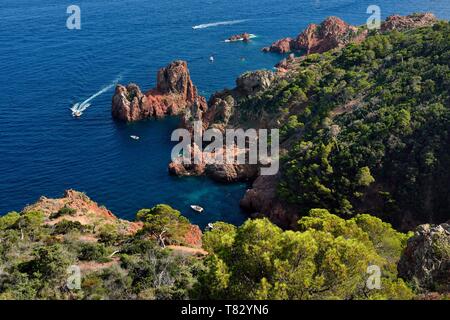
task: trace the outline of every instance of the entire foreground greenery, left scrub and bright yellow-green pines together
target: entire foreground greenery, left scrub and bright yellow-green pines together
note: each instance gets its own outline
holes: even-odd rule
[[[413,297],[396,271],[408,235],[378,218],[344,220],[315,209],[299,221],[299,231],[266,219],[241,227],[217,222],[203,236],[209,254],[199,258],[164,248],[155,237],[161,221],[166,230],[176,227],[180,221],[165,218],[178,214],[166,205],[141,210],[137,217],[147,222],[128,236],[114,224],[93,231],[64,219],[54,224],[40,212],[7,214],[0,218],[0,299]],[[167,242],[174,241],[170,234]],[[367,287],[371,265],[380,268],[381,289]],[[80,288],[69,286],[74,266]]]

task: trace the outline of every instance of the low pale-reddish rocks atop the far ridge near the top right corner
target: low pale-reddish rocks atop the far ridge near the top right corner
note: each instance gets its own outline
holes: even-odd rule
[[[437,21],[436,16],[432,13],[416,13],[409,16],[393,15],[383,22],[381,31],[403,31],[411,28],[426,27],[435,24]]]

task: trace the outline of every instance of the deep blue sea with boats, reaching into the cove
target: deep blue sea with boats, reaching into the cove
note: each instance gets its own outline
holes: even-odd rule
[[[82,118],[68,108],[114,79],[153,87],[171,60],[189,63],[203,95],[233,87],[246,70],[271,68],[280,57],[261,47],[298,34],[310,22],[336,15],[354,24],[367,19],[372,0],[2,0],[0,6],[0,213],[20,210],[41,195],[85,191],[115,214],[158,203],[194,223],[239,224],[245,184],[167,174],[170,134],[177,119],[116,123],[112,90],[97,97]],[[448,0],[378,0],[383,17],[432,11],[450,16]],[[82,30],[66,28],[66,8],[81,7]],[[227,20],[234,25],[192,26]],[[258,36],[249,44],[224,43],[235,33]],[[211,54],[215,63],[208,62]],[[241,58],[245,58],[245,62]],[[141,136],[140,141],[129,138]],[[205,207],[204,215],[189,209]]]

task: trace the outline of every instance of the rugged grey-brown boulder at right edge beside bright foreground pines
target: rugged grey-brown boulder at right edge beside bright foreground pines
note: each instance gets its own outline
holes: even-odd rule
[[[419,226],[408,240],[398,273],[423,291],[450,292],[450,221]]]

